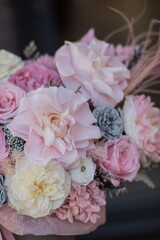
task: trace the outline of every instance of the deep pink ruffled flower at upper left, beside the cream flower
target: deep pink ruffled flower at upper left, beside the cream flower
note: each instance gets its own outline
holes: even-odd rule
[[[42,64],[32,62],[17,71],[9,81],[21,87],[26,92],[30,92],[48,84],[51,80],[56,85],[59,83],[57,79],[58,75],[56,71],[46,68]]]

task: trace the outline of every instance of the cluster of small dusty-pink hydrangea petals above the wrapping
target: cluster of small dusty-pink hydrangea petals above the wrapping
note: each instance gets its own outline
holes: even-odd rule
[[[91,182],[87,186],[77,186],[72,184],[70,196],[66,202],[56,210],[56,215],[61,220],[68,219],[87,223],[96,223],[100,212],[100,207],[106,205],[105,192],[99,189],[97,181]]]

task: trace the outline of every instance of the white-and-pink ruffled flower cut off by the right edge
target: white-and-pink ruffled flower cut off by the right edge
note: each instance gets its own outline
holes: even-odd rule
[[[142,152],[142,163],[149,157],[160,162],[160,109],[154,107],[150,97],[128,96],[123,107],[124,130]]]

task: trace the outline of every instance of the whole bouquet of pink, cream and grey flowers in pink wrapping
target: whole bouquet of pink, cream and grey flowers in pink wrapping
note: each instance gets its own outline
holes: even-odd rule
[[[54,56],[22,61],[0,50],[6,238],[88,233],[105,222],[106,196],[126,181],[153,187],[145,169],[160,162],[160,109],[144,92],[159,83],[160,51],[132,40],[114,46],[90,29]]]

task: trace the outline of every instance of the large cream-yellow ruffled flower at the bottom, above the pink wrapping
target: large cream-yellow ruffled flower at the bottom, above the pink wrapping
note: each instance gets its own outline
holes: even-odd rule
[[[9,206],[37,218],[51,214],[63,204],[71,180],[59,163],[42,166],[23,157],[16,163],[15,174],[6,176],[5,186]]]

